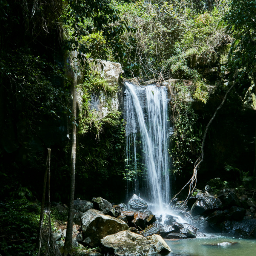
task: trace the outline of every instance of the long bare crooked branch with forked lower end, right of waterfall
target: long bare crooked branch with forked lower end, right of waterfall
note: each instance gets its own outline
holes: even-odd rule
[[[203,141],[202,141],[202,146],[201,146],[201,155],[200,157],[197,159],[197,161],[195,162],[195,168],[194,168],[194,171],[193,171],[193,176],[191,177],[191,179],[186,183],[186,185],[181,188],[181,190],[179,191],[179,193],[177,193],[173,198],[172,200],[170,200],[170,203],[181,193],[181,191],[189,184],[189,191],[188,191],[188,195],[187,195],[187,198],[186,200],[183,202],[185,203],[189,197],[190,194],[193,193],[196,185],[197,185],[197,170],[200,166],[200,164],[203,162],[204,160],[204,143],[205,143],[205,139],[206,139],[206,134],[208,132],[208,129],[209,129],[209,126],[212,122],[212,120],[214,120],[217,112],[220,110],[220,108],[222,107],[222,105],[224,104],[226,98],[227,98],[227,95],[228,93],[230,92],[230,90],[233,88],[234,86],[234,83],[232,84],[232,86],[228,89],[228,91],[226,92],[221,104],[218,106],[218,108],[216,109],[214,115],[211,117],[210,121],[208,122],[207,126],[206,126],[206,129],[205,129],[205,132],[204,132],[204,136],[203,136]],[[170,203],[168,204],[168,206],[170,205]]]

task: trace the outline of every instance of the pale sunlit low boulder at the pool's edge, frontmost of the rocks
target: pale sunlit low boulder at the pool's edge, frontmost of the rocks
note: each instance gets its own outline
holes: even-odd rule
[[[144,238],[130,230],[120,231],[101,239],[103,251],[119,256],[154,255],[171,251],[164,240],[158,236]]]

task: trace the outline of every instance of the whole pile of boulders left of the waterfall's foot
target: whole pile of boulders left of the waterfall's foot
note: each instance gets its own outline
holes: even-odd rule
[[[93,198],[92,202],[75,200],[75,220],[81,226],[74,225],[73,245],[78,246],[79,243],[82,246],[100,247],[104,253],[131,256],[170,251],[158,234],[140,234],[140,231],[156,222],[156,217],[145,205],[136,195],[128,206],[112,205],[100,197]],[[65,238],[65,230],[58,230],[54,236],[57,244],[62,246],[61,238]]]

